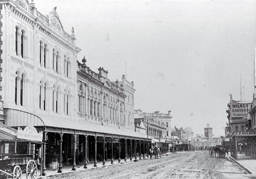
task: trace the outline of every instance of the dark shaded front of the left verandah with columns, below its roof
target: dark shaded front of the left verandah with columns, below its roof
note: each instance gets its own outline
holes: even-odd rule
[[[37,130],[41,129],[37,127]],[[114,159],[118,159],[120,163],[121,160],[126,162],[133,158],[146,158],[151,145],[151,142],[145,138],[131,136],[77,130],[68,133],[72,130],[50,127],[43,127],[42,131],[43,155],[45,155],[43,173],[47,173],[46,167],[52,169],[54,152],[58,155],[58,172],[62,172],[63,165],[69,165],[70,170],[76,170],[76,165],[86,169],[89,162],[94,162],[94,166],[97,167],[97,165],[105,165],[107,160],[113,164]]]

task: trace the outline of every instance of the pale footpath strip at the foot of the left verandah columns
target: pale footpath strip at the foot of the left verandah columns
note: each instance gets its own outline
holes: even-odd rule
[[[174,153],[166,153],[164,155],[161,155],[161,156],[165,156],[165,155],[170,155],[170,154],[174,154]],[[150,156],[147,158],[147,156],[145,155],[145,159],[146,160],[150,160]],[[143,159],[143,156],[141,156],[141,159],[139,159],[139,156],[137,156],[137,160],[145,160]],[[38,179],[46,179],[47,177],[51,177],[51,176],[55,176],[55,175],[60,175],[60,174],[63,174],[63,173],[70,173],[70,172],[77,172],[77,171],[82,171],[82,170],[94,170],[94,169],[97,169],[99,167],[109,167],[109,166],[113,166],[113,165],[121,165],[121,164],[124,164],[124,163],[129,163],[129,162],[134,162],[135,160],[135,157],[132,158],[132,160],[130,160],[129,157],[127,157],[127,160],[126,162],[124,162],[124,159],[121,159],[121,163],[118,163],[118,159],[114,159],[113,161],[113,164],[111,164],[111,160],[108,159],[105,163],[105,165],[102,165],[103,163],[102,162],[97,162],[97,167],[94,167],[94,162],[89,162],[87,164],[87,169],[84,169],[84,164],[80,163],[80,165],[76,165],[76,171],[73,171],[72,170],[72,165],[63,165],[62,167],[62,173],[58,173],[57,170],[55,171],[51,171],[48,167],[46,167],[46,175],[47,176],[39,176],[40,175],[40,169],[39,170],[39,173],[38,173]],[[22,174],[22,178],[26,178],[26,176]]]

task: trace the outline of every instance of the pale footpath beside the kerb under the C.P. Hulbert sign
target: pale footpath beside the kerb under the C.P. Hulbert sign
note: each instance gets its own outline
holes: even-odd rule
[[[229,158],[232,160],[235,160],[240,167],[242,167],[245,171],[251,172],[251,174],[256,175],[256,159],[251,157],[251,156],[245,156],[245,154],[237,154],[238,159],[235,160],[234,158],[230,157],[229,153]]]

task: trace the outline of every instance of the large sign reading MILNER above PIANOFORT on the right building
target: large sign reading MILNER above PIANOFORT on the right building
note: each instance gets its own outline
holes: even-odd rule
[[[248,112],[250,111],[248,107],[251,103],[238,103],[232,101],[230,104],[230,116],[231,117],[247,117]]]

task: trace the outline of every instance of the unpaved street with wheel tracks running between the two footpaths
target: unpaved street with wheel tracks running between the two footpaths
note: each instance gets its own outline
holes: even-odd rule
[[[161,159],[139,160],[138,162],[123,163],[120,165],[98,167],[94,170],[85,170],[61,174],[50,178],[65,179],[163,179],[163,178],[229,178],[243,179],[256,178],[243,174],[237,166],[228,159],[210,158],[208,151],[180,152]]]

